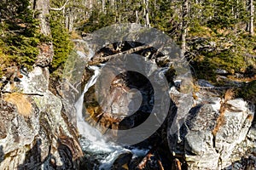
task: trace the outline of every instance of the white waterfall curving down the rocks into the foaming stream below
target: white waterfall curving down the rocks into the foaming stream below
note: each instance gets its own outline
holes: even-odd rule
[[[90,153],[90,156],[94,156],[95,160],[100,162],[99,165],[94,165],[90,167],[91,169],[110,169],[113,161],[115,161],[120,154],[131,152],[133,157],[145,156],[148,150],[138,150],[132,148],[131,150],[125,149],[117,144],[106,142],[102,133],[100,133],[95,127],[91,127],[88,122],[84,121],[83,116],[83,104],[84,104],[84,94],[92,87],[100,75],[100,67],[90,66],[91,70],[94,71],[94,75],[90,77],[90,80],[84,86],[84,92],[79,97],[75,104],[77,109],[77,126],[79,133],[82,136],[80,139],[80,144],[82,150],[86,153]]]

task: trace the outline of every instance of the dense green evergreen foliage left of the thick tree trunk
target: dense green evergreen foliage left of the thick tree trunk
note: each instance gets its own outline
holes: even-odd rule
[[[0,4],[0,54],[6,61],[2,67],[25,65],[32,68],[36,60],[40,33],[38,21],[28,7],[28,0],[3,1]]]

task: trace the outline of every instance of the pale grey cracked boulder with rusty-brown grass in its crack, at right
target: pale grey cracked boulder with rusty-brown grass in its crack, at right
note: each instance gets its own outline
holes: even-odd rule
[[[184,157],[189,169],[223,169],[240,160],[246,154],[245,148],[255,148],[251,142],[255,137],[254,128],[251,127],[254,114],[252,105],[243,99],[221,102],[223,99],[216,94],[203,90],[195,95],[196,105],[185,117],[179,134],[170,133],[170,128],[167,131],[173,156]],[[222,114],[221,108],[224,108]],[[168,126],[172,127],[172,123],[172,119],[169,119]],[[181,141],[178,141],[178,135]],[[252,139],[247,141],[248,138]]]

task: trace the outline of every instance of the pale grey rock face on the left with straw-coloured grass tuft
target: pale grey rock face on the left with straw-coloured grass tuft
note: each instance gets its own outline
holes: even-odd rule
[[[49,92],[44,70],[36,67],[16,85],[18,92],[4,94],[0,105],[0,169],[73,169],[82,156],[76,132],[61,113],[61,99]],[[21,95],[32,105],[20,115],[19,102],[5,101]],[[2,126],[3,125],[3,126]]]

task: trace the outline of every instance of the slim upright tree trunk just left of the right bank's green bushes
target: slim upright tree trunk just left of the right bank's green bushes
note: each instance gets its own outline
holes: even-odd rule
[[[185,57],[186,52],[186,37],[188,32],[188,13],[189,13],[189,0],[183,0],[183,20],[182,20],[182,32],[181,32],[181,57]]]

